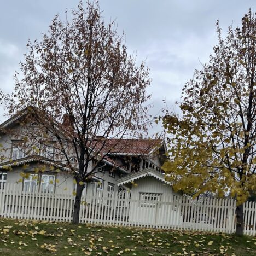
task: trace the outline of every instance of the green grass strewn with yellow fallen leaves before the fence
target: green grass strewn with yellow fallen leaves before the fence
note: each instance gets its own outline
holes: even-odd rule
[[[193,254],[256,255],[256,238],[0,219],[0,255]]]

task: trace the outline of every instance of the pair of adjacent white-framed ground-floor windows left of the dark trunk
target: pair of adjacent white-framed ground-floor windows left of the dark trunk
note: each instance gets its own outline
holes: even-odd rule
[[[53,193],[55,185],[54,174],[30,174],[29,177],[24,178],[24,191],[34,192],[37,189],[45,193]]]

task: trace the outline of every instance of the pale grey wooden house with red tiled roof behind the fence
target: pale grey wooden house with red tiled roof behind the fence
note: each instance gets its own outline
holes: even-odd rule
[[[24,115],[26,112],[16,114],[0,125],[0,184],[16,184],[16,189],[20,191],[72,193],[75,189],[73,173],[65,159],[58,159],[54,154],[54,146],[51,147],[54,139],[49,146],[33,150],[33,143],[22,141],[26,136],[18,138],[14,135],[16,133],[7,132],[26,130],[27,126],[38,129],[34,120],[24,125]],[[109,140],[106,147],[112,147],[112,150],[103,159],[103,164],[97,167],[97,172],[88,178],[84,196],[96,194],[109,197],[116,191],[129,191],[135,200],[160,200],[175,194],[161,171],[164,142],[157,139],[123,139],[115,144],[115,140]],[[73,155],[69,160],[74,166],[77,164]],[[91,167],[95,164],[91,162]]]

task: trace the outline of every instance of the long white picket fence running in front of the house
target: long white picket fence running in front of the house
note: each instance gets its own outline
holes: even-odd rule
[[[80,222],[146,228],[235,232],[236,201],[231,199],[192,200],[187,196],[133,200],[130,193],[106,197],[82,197]],[[25,192],[15,184],[0,188],[0,217],[70,222],[74,196],[69,194]],[[255,202],[244,206],[244,232],[256,234]]]

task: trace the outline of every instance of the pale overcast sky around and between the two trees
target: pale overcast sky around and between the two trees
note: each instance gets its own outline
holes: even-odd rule
[[[216,21],[225,32],[239,25],[255,0],[100,0],[106,22],[117,20],[125,32],[130,53],[150,68],[153,115],[166,99],[169,107],[181,96],[181,88],[195,69],[207,62],[217,43]],[[14,71],[26,53],[28,39],[40,39],[54,15],[77,7],[78,0],[8,0],[0,2],[0,88],[11,92]],[[201,62],[201,63],[200,63]],[[3,109],[0,121],[5,120]],[[154,129],[155,130],[155,129]]]

